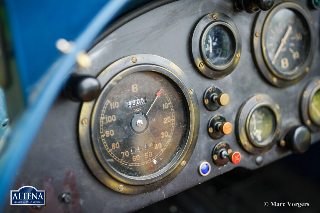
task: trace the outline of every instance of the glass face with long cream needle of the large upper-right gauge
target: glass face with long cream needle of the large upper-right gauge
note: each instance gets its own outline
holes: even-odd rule
[[[267,61],[272,70],[282,76],[297,75],[310,49],[310,31],[303,16],[295,10],[277,11],[266,28]]]

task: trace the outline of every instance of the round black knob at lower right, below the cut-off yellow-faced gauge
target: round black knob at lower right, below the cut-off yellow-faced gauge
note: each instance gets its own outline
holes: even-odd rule
[[[293,126],[284,137],[285,146],[292,151],[304,153],[311,143],[311,134],[305,126]]]

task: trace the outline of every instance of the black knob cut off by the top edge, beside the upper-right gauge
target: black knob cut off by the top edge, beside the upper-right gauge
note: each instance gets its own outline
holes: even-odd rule
[[[274,0],[236,0],[236,8],[238,11],[246,11],[253,13],[259,10],[269,10]]]

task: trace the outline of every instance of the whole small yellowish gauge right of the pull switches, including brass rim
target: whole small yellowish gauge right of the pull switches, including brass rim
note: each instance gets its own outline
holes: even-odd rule
[[[277,141],[281,126],[280,107],[265,94],[248,98],[238,112],[236,135],[242,147],[259,155]]]

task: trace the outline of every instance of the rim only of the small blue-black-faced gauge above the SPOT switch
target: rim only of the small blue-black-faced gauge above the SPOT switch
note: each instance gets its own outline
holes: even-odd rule
[[[213,18],[215,17],[215,19]],[[234,35],[236,47],[232,59],[224,66],[214,66],[206,60],[203,54],[204,36],[215,25],[228,27]],[[196,25],[191,38],[191,57],[198,71],[211,79],[220,79],[230,74],[236,67],[241,56],[241,38],[235,22],[226,14],[214,12],[205,15]]]

